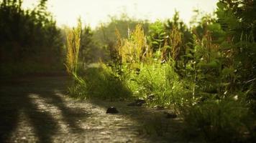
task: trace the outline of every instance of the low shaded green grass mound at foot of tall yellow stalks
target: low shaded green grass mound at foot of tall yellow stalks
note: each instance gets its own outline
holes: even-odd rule
[[[116,77],[111,69],[104,64],[86,69],[82,77],[84,84],[76,82],[70,87],[70,93],[81,99],[124,99],[129,98],[132,92],[122,79]]]

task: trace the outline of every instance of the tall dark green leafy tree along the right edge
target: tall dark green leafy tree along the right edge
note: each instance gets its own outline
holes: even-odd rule
[[[221,48],[232,57],[235,83],[256,112],[256,1],[220,0],[217,6],[219,24],[227,33]]]

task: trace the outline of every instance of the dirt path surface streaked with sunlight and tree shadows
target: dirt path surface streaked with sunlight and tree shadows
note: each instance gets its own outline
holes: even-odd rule
[[[0,142],[183,142],[179,118],[127,102],[71,99],[67,81],[1,79]],[[110,106],[119,114],[106,114]]]

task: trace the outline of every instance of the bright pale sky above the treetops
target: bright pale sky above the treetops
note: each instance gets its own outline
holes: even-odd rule
[[[39,0],[24,0],[24,7],[33,7]],[[193,9],[211,13],[216,9],[218,0],[48,0],[48,9],[52,12],[58,26],[75,26],[79,16],[83,24],[92,28],[101,22],[109,21],[109,16],[126,13],[136,19],[172,18],[175,9],[187,24],[194,15]]]

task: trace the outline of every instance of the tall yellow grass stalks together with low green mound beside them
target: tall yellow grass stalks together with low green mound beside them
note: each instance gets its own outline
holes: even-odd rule
[[[87,69],[85,75],[78,73],[78,56],[81,44],[81,20],[74,29],[66,28],[67,35],[67,59],[65,66],[73,77],[73,83],[69,87],[69,93],[73,97],[86,99],[90,97],[101,99],[117,99],[129,97],[129,89],[124,82],[113,74],[111,68],[100,64]]]

